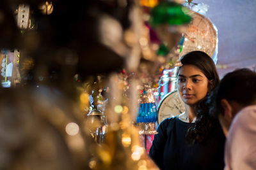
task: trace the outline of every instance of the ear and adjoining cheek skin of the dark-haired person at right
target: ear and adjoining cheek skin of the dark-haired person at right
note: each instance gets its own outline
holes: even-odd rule
[[[228,129],[232,122],[232,106],[228,103],[227,99],[221,99],[220,101],[221,107],[223,108],[223,114],[219,115],[220,124],[222,126],[223,132],[225,136],[228,135]]]

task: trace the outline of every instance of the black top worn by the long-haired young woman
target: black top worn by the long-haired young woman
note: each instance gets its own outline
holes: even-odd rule
[[[149,152],[160,169],[223,170],[223,132],[220,128],[213,129],[204,142],[191,145],[186,141],[186,132],[193,124],[182,122],[178,117],[161,122]]]

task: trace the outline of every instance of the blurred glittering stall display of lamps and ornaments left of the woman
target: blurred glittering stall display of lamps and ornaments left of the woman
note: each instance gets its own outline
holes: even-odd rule
[[[8,128],[0,143],[13,133],[19,140],[10,150],[26,155],[15,161],[6,144],[4,168],[14,162],[13,169],[159,169],[147,155],[148,141],[168,117],[164,107],[172,108],[169,115],[184,108],[175,92],[161,101],[155,93],[164,71],[174,81],[180,55],[195,42],[216,53],[211,22],[178,0],[1,1],[0,80],[10,87],[1,104],[20,124],[1,124]],[[40,141],[44,136],[49,141]],[[31,160],[29,143],[36,149]]]

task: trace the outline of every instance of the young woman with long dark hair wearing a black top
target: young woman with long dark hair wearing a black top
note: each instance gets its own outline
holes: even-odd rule
[[[223,169],[225,136],[205,105],[220,82],[214,62],[200,51],[180,62],[177,89],[186,111],[161,122],[149,155],[161,169]]]

